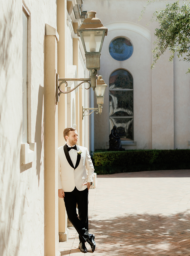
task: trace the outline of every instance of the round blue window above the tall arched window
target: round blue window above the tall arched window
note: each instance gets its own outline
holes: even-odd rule
[[[109,53],[113,59],[125,61],[133,54],[133,46],[127,38],[117,37],[111,41]]]

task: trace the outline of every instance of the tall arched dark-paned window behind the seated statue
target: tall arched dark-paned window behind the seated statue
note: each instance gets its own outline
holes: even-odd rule
[[[121,140],[133,140],[133,78],[125,69],[109,79],[109,124],[110,132],[117,126]]]

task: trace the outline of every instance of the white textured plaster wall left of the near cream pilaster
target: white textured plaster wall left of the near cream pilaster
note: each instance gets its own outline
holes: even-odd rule
[[[33,163],[20,164],[22,143],[22,1],[0,3],[0,251],[44,255],[44,35],[56,28],[56,2],[24,1],[29,18],[28,142]]]

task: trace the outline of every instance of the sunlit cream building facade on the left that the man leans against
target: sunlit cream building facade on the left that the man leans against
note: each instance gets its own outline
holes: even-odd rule
[[[79,144],[90,147],[88,84],[56,103],[60,78],[86,78],[85,55],[76,29],[86,12],[81,1],[8,0],[0,3],[0,251],[7,255],[60,255],[68,239],[59,203],[58,146],[76,124]],[[63,91],[76,84],[61,86]]]

